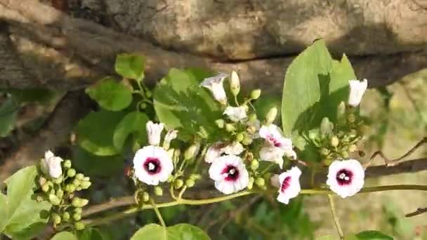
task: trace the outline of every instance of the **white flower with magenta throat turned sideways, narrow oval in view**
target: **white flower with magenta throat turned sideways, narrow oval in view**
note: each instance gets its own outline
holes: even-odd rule
[[[297,167],[291,168],[279,175],[279,196],[277,201],[283,204],[289,204],[289,199],[298,196],[301,191],[301,185],[299,184],[299,177],[301,176],[301,170]]]

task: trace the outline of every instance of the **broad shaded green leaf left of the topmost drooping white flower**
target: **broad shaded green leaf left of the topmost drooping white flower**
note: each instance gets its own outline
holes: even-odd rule
[[[157,84],[154,93],[156,114],[159,121],[179,129],[180,137],[195,135],[202,126],[209,138],[218,137],[215,120],[221,117],[221,109],[206,89],[199,86],[200,72],[171,69]]]

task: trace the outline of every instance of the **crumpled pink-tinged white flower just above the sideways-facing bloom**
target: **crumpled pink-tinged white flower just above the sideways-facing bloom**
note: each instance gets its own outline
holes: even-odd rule
[[[264,146],[259,152],[261,160],[275,162],[282,168],[283,155],[296,159],[296,152],[292,149],[292,140],[284,138],[278,126],[274,124],[262,126],[259,135],[265,139]]]

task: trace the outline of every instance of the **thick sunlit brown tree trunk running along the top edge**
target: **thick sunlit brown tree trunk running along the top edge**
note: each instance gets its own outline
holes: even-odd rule
[[[90,0],[87,6],[96,6]],[[102,6],[103,1],[98,1]],[[298,53],[325,39],[333,53],[424,48],[427,4],[414,0],[105,0],[123,32],[163,48],[228,60]]]

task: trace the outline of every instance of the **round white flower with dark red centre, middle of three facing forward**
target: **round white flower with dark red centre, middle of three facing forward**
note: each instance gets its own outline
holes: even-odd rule
[[[242,159],[235,155],[220,156],[209,168],[209,177],[223,194],[239,192],[249,184],[249,173]]]

